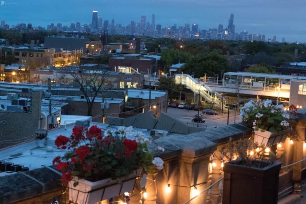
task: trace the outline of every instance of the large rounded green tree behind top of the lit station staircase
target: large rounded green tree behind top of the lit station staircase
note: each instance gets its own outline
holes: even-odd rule
[[[195,77],[200,78],[205,73],[207,76],[215,76],[216,74],[221,74],[221,72],[227,72],[229,69],[226,57],[214,50],[207,54],[192,57],[182,67],[181,71],[190,75],[194,72]]]

